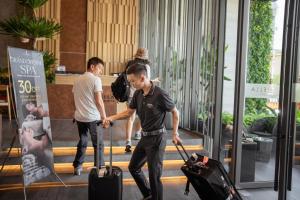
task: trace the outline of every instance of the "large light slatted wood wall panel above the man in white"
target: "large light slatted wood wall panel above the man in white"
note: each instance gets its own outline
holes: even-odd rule
[[[86,60],[98,56],[104,73],[121,72],[138,48],[139,0],[88,0]]]

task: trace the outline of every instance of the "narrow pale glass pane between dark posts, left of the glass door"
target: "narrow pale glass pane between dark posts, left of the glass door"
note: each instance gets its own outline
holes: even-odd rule
[[[223,110],[222,110],[222,132],[220,160],[227,172],[230,171],[230,161],[232,157],[232,137],[233,137],[233,109],[234,109],[234,87],[236,70],[236,45],[238,25],[238,0],[227,1],[226,12],[226,38],[224,53],[224,82],[223,82]]]

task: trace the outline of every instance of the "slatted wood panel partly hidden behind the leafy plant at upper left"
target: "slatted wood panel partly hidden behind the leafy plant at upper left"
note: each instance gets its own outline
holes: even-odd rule
[[[45,17],[60,23],[60,7],[61,0],[49,0],[37,10],[38,17]],[[55,35],[52,39],[42,40],[37,42],[37,49],[40,51],[49,51],[54,53],[55,57],[60,60],[60,37]]]

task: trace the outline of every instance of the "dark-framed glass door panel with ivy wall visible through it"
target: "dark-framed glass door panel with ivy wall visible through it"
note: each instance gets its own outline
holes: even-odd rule
[[[240,188],[274,185],[285,2],[239,1],[233,138],[227,155]]]

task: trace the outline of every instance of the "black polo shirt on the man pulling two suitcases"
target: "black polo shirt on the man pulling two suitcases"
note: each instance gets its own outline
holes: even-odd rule
[[[129,105],[129,108],[136,109],[142,129],[146,132],[163,128],[166,112],[175,107],[166,91],[152,82],[151,84],[150,91],[146,96],[142,89],[136,90]]]

